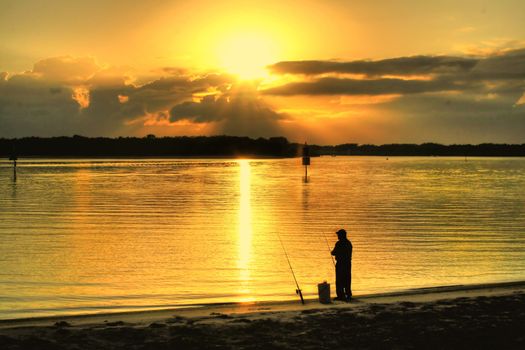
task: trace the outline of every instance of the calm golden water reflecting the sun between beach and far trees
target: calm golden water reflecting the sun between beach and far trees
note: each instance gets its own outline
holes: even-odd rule
[[[525,159],[0,163],[0,319],[525,279]]]

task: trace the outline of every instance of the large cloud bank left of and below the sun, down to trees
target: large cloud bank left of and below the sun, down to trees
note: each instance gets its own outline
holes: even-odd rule
[[[209,124],[209,133],[278,134],[282,115],[261,100],[255,86],[236,85],[234,76],[222,73],[164,74],[139,85],[127,67],[69,56],[41,60],[25,73],[2,73],[0,137],[140,135],[157,126],[177,134],[182,115],[189,121],[185,133],[191,125],[203,130]]]

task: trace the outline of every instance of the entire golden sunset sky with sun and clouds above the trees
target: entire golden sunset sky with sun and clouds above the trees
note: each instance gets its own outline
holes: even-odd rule
[[[0,137],[525,143],[525,1],[0,0]]]

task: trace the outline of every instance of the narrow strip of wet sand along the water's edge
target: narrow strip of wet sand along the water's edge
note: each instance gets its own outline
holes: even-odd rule
[[[352,306],[355,302],[359,303],[377,303],[386,302],[394,303],[400,300],[439,300],[455,296],[468,295],[487,295],[500,294],[508,291],[524,291],[525,280],[497,282],[497,283],[478,283],[478,284],[460,284],[444,285],[437,287],[411,288],[402,291],[373,293],[364,295],[355,295],[354,301],[348,304]],[[12,327],[31,327],[54,324],[59,321],[74,322],[79,325],[99,323],[110,320],[127,320],[130,322],[143,323],[141,321],[159,321],[169,318],[173,314],[183,317],[203,317],[211,313],[221,314],[250,314],[260,312],[282,312],[282,311],[301,311],[315,308],[330,308],[339,305],[320,304],[317,298],[305,299],[305,305],[298,300],[275,300],[260,302],[225,302],[209,304],[184,304],[181,306],[159,309],[145,309],[135,311],[121,312],[100,312],[100,313],[79,313],[68,315],[50,315],[37,317],[21,317],[0,319],[0,329]]]

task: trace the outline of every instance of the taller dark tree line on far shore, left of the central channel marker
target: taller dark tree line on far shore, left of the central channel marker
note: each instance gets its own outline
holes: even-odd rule
[[[25,137],[0,139],[0,156],[10,155],[13,147],[18,156],[46,157],[293,157],[297,154],[297,145],[284,137]]]

